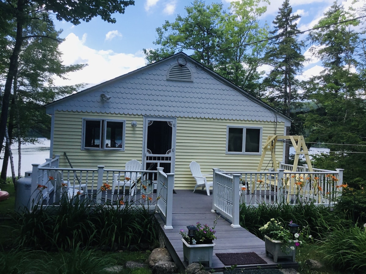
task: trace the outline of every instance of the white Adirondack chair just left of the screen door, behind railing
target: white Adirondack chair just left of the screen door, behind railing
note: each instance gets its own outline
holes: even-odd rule
[[[124,165],[125,170],[141,170],[142,164],[138,160],[130,160]],[[137,180],[141,177],[141,173],[138,172],[126,172],[124,179],[121,180],[118,174],[115,174],[113,183],[112,183],[112,195],[115,189],[123,186],[123,197],[126,194],[126,186],[129,187],[129,195],[130,197],[135,195],[135,190],[137,186]],[[126,180],[128,178],[128,180]]]

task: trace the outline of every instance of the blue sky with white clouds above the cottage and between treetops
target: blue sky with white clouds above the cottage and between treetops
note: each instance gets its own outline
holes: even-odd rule
[[[82,22],[74,26],[67,22],[56,21],[56,28],[63,29],[60,44],[65,65],[87,63],[82,71],[70,73],[68,80],[57,79],[55,84],[88,83],[87,87],[102,83],[123,75],[146,64],[142,49],[155,49],[156,28],[165,20],[174,22],[176,15],[186,14],[184,7],[193,1],[186,0],[135,0],[134,6],[128,6],[125,14],[116,14],[117,23],[106,23],[100,18]],[[220,0],[206,0],[206,4]],[[221,0],[225,9],[229,0]],[[283,1],[273,0],[261,22],[272,23]],[[346,7],[350,0],[339,1]],[[293,12],[301,15],[298,22],[300,30],[312,28],[322,14],[333,4],[333,0],[290,0]],[[305,54],[307,52],[305,51]],[[303,77],[317,74],[321,67],[317,60],[306,65]]]

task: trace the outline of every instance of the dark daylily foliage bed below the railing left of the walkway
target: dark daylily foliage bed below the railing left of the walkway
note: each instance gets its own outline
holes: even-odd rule
[[[60,206],[35,206],[18,216],[20,247],[41,250],[72,250],[76,245],[105,248],[129,247],[141,239],[156,239],[155,218],[147,209],[94,205],[78,196],[63,199]]]

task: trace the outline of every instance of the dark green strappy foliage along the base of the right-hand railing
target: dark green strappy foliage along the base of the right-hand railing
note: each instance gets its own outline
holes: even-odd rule
[[[257,208],[240,206],[240,225],[258,237],[262,237],[259,228],[271,218],[276,218],[283,224],[293,221],[313,237],[321,237],[332,231],[334,224],[345,222],[329,208],[315,206],[313,203],[296,205],[262,203]]]

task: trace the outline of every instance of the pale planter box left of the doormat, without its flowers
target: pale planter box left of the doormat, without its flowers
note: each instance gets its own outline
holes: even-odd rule
[[[188,265],[193,262],[208,262],[208,266],[212,266],[213,247],[216,244],[188,244],[182,238],[183,242],[183,259],[188,260]]]

